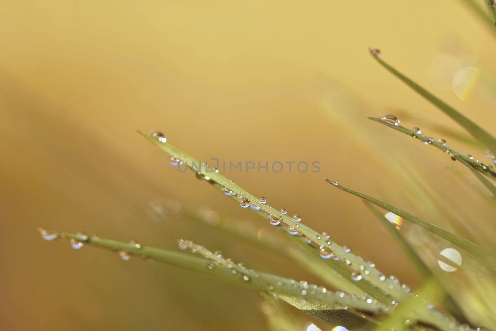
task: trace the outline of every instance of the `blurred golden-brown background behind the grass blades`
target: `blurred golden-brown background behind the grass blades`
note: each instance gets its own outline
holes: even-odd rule
[[[465,132],[367,51],[380,48],[491,132],[496,43],[462,1],[11,1],[0,17],[2,330],[266,328],[255,291],[46,243],[38,226],[173,250],[187,238],[318,281],[214,229],[155,217],[157,203],[176,199],[184,210],[209,207],[270,227],[178,173],[136,130],[164,132],[202,160],[319,161],[319,173],[228,176],[413,287],[417,275],[370,211],[324,177],[494,248],[494,214],[476,198],[473,175],[367,120],[392,113],[484,158],[483,149],[440,136],[434,123]]]

